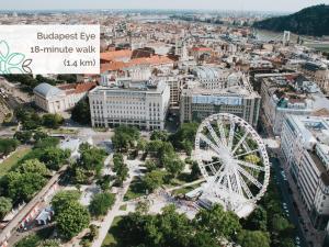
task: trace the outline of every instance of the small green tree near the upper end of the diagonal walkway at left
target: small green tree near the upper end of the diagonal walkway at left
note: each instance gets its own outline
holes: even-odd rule
[[[66,159],[70,157],[70,150],[63,150],[57,147],[48,147],[39,157],[41,161],[45,162],[47,168],[52,170],[59,170]]]

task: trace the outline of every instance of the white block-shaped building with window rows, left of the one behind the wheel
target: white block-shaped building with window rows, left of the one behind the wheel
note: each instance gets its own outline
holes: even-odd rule
[[[126,124],[163,130],[169,101],[170,88],[163,81],[121,79],[115,86],[90,91],[91,123],[94,127]]]

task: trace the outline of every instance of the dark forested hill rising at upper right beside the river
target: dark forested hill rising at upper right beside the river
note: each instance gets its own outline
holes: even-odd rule
[[[329,35],[329,5],[319,4],[294,14],[256,22],[253,27],[271,31],[291,31],[313,36]]]

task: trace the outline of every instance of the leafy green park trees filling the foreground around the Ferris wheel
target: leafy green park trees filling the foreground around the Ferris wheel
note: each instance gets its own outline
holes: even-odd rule
[[[196,126],[194,123],[183,124],[174,134],[154,131],[149,138],[141,137],[135,127],[116,127],[112,138],[115,153],[110,162],[114,175],[101,172],[107,157],[102,148],[83,143],[79,148],[79,158],[68,162],[70,153],[58,148],[58,139],[35,130],[16,133],[14,142],[18,144],[3,141],[11,144],[8,151],[18,148],[19,143],[33,145],[33,148],[0,179],[0,217],[16,203],[31,200],[44,187],[52,172],[68,164],[66,176],[78,190],[61,191],[53,198],[54,227],[59,239],[52,239],[54,243],[50,244],[56,246],[89,228],[80,243],[82,246],[89,246],[98,235],[98,227],[90,224],[91,221],[101,220],[107,214],[115,202],[112,187],[122,187],[129,177],[127,159],[138,158],[144,169],[140,177],[134,178],[127,192],[135,195],[125,195],[125,200],[201,178],[197,162],[191,158]],[[257,161],[251,155],[246,159]],[[177,183],[178,181],[181,183]],[[95,183],[101,191],[95,193],[86,206],[80,203],[79,190],[81,186],[90,183]],[[152,215],[148,214],[148,202],[140,201],[134,213],[121,216],[111,229],[117,242],[115,246],[215,247],[225,240],[242,247],[291,247],[294,244],[295,229],[281,209],[280,193],[273,181],[248,218],[238,218],[234,213],[224,211],[220,205],[208,210],[201,209],[193,220],[178,213],[173,205],[168,205],[162,209],[162,213]],[[27,240],[32,243],[36,238],[29,236],[16,246]],[[31,246],[49,244],[37,239],[37,245]]]

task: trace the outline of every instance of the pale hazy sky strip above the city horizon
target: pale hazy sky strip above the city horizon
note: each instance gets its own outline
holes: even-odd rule
[[[0,10],[195,9],[293,12],[329,0],[0,0]]]

